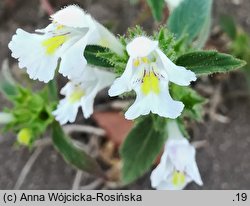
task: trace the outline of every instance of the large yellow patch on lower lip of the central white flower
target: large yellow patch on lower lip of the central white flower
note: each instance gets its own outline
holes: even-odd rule
[[[145,95],[148,95],[150,92],[154,92],[155,94],[160,93],[159,79],[154,72],[150,72],[143,77],[141,90]]]

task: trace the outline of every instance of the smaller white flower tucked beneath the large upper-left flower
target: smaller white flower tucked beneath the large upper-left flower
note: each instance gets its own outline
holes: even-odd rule
[[[107,86],[110,86],[115,79],[111,72],[103,71],[94,67],[87,67],[81,79],[76,82],[68,82],[61,90],[65,95],[53,112],[60,124],[74,122],[79,107],[82,107],[85,118],[93,113],[94,99],[97,93]]]

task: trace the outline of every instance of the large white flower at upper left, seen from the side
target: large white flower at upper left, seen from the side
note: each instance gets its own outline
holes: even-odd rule
[[[78,6],[58,11],[51,20],[36,33],[17,29],[9,43],[12,56],[19,60],[20,68],[27,68],[31,79],[46,83],[53,79],[59,59],[61,74],[70,79],[82,75],[87,64],[84,49],[90,44],[123,52],[118,39]]]

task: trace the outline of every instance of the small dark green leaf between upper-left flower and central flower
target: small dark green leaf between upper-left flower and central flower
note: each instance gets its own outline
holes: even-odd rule
[[[96,45],[86,46],[85,51],[84,51],[84,56],[86,60],[88,61],[88,64],[92,64],[92,65],[100,66],[100,67],[112,67],[112,65],[108,61],[98,56],[98,53],[102,53],[102,52],[105,53],[106,50],[108,49],[104,47],[96,46]]]

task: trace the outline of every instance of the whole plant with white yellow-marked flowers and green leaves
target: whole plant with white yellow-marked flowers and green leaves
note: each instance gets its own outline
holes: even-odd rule
[[[156,20],[161,20],[164,0],[147,2]],[[35,33],[17,29],[9,43],[12,57],[30,79],[46,84],[34,93],[2,71],[1,91],[13,103],[0,113],[4,130],[13,130],[19,144],[32,147],[51,128],[53,144],[67,162],[103,177],[97,161],[61,126],[73,123],[79,108],[89,118],[98,92],[110,87],[110,97],[124,95],[130,101],[124,116],[134,121],[120,148],[122,182],[145,174],[165,148],[151,174],[152,187],[183,189],[192,180],[202,185],[186,124],[202,120],[207,100],[193,84],[201,75],[228,72],[245,62],[202,50],[209,36],[212,0],[171,2],[167,1],[172,5],[167,24],[152,36],[136,26],[116,37],[76,5],[53,14],[51,23]],[[61,100],[58,73],[68,80],[60,90]]]

